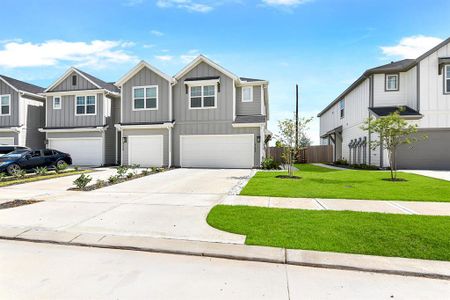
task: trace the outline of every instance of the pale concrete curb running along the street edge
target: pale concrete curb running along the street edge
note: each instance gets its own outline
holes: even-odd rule
[[[0,228],[0,239],[450,280],[450,262],[446,261],[14,227]]]

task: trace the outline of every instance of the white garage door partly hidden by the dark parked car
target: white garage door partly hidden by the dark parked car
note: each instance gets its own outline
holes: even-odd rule
[[[48,142],[48,148],[69,153],[76,166],[103,165],[102,138],[55,138]]]

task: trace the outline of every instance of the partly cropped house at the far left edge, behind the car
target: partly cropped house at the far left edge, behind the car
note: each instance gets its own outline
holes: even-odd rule
[[[0,145],[43,148],[43,88],[0,75]]]

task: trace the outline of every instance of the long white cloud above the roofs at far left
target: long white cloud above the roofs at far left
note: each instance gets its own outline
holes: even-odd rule
[[[77,66],[102,68],[108,64],[127,63],[136,58],[122,49],[128,42],[8,42],[0,50],[0,66],[6,68],[56,66],[63,62]]]

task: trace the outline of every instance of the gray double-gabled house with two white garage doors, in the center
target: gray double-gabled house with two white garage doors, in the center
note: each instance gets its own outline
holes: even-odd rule
[[[251,168],[265,153],[268,82],[200,55],[175,77],[146,62],[116,85],[124,165]]]

